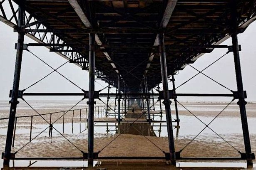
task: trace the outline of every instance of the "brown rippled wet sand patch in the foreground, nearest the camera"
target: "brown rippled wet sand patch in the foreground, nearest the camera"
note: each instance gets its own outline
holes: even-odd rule
[[[87,133],[81,134],[84,139],[77,139],[72,135],[65,135],[68,139],[72,141],[80,150],[87,152]],[[105,145],[107,145],[111,140],[113,140],[117,135],[110,137],[101,137],[94,139],[94,150],[97,152],[101,150]],[[239,136],[232,136],[232,138]],[[5,138],[5,136],[0,136],[0,138]],[[80,137],[81,138],[81,137]],[[159,148],[168,152],[168,139],[167,137],[153,137],[147,136],[149,140],[155,143]],[[17,135],[17,141],[15,142],[15,147],[13,151],[21,148],[22,145],[27,143],[29,136]],[[256,151],[256,136],[251,136],[252,150]],[[107,146],[99,156],[149,156],[149,157],[163,157],[164,154],[162,150],[157,148],[151,142],[149,142],[144,136],[122,134],[116,140],[114,140],[110,145]],[[187,143],[189,139],[176,139],[175,149],[176,151],[181,150]],[[241,143],[242,140],[236,140],[236,142],[229,142],[234,145],[235,148],[239,150],[244,150]],[[1,150],[3,150],[5,141],[1,140]],[[17,157],[71,157],[71,156],[82,156],[82,153],[73,145],[71,145],[67,140],[61,136],[53,137],[52,143],[51,138],[46,136],[39,136],[37,140],[29,143],[25,148],[17,153]],[[231,148],[225,142],[211,142],[207,140],[194,140],[186,149],[182,151],[181,156],[239,156],[239,153]]]

